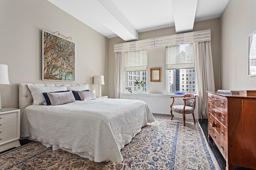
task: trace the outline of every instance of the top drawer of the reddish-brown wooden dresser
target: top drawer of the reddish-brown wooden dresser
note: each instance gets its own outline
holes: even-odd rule
[[[222,98],[220,96],[216,96],[214,94],[208,94],[208,102],[213,104],[217,108],[223,110],[224,112],[227,111],[227,104],[228,100],[226,98]]]

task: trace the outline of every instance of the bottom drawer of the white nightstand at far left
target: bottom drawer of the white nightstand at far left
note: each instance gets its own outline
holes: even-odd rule
[[[5,141],[17,138],[17,125],[4,127],[0,129],[0,145]]]

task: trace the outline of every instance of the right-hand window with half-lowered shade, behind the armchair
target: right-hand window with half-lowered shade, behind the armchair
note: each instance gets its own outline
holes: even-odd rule
[[[195,74],[191,72],[195,72],[193,43],[166,47],[166,92],[196,93]]]

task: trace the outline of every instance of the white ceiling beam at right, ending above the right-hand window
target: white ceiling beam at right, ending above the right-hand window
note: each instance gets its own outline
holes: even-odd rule
[[[172,0],[176,33],[190,32],[194,27],[198,0]]]

